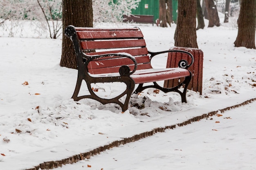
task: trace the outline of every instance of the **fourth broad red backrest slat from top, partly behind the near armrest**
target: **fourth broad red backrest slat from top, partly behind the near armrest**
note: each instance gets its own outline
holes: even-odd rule
[[[149,56],[140,56],[135,57],[137,64],[146,64],[150,63]],[[134,62],[126,57],[118,57],[118,58],[110,58],[110,59],[103,59],[103,60],[94,60],[88,64],[89,69],[93,68],[106,68],[106,67],[113,67],[113,66],[123,66],[123,65],[132,65]]]

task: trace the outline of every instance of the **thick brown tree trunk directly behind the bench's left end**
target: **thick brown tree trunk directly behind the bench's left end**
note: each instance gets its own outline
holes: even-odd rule
[[[92,0],[62,0],[62,53],[60,66],[77,68],[76,55],[72,41],[64,35],[64,30],[69,25],[92,27]]]

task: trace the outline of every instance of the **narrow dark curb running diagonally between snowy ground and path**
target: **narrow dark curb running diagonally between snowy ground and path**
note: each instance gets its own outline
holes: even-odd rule
[[[109,150],[110,148],[118,147],[120,145],[124,145],[124,144],[128,144],[130,142],[138,141],[139,139],[142,139],[142,138],[145,138],[145,137],[153,136],[155,133],[164,132],[166,129],[174,129],[174,128],[176,128],[176,125],[177,126],[185,126],[187,124],[191,124],[194,121],[199,121],[201,119],[208,118],[208,117],[211,117],[213,115],[216,115],[218,113],[218,111],[223,113],[226,110],[230,110],[232,108],[237,108],[237,107],[240,107],[240,106],[244,106],[246,104],[252,103],[255,100],[256,100],[256,98],[249,99],[249,100],[247,100],[247,101],[245,101],[241,104],[236,104],[234,106],[229,106],[227,108],[211,111],[209,113],[205,113],[203,115],[193,117],[193,118],[188,119],[188,120],[186,120],[186,121],[184,121],[180,124],[165,126],[164,128],[154,128],[153,130],[150,130],[148,132],[142,132],[142,133],[140,133],[138,135],[134,135],[132,137],[123,138],[122,140],[113,141],[112,143],[110,143],[108,145],[95,148],[94,150],[91,150],[89,152],[84,152],[84,153],[80,153],[78,155],[73,155],[71,157],[68,157],[66,159],[61,159],[61,160],[58,160],[58,161],[43,162],[43,163],[40,163],[38,166],[35,166],[34,168],[25,169],[25,170],[39,170],[39,168],[41,168],[42,170],[44,170],[44,169],[49,170],[49,169],[61,167],[62,165],[65,165],[65,164],[72,164],[72,163],[75,163],[77,161],[81,161],[83,159],[90,159],[90,157],[92,157],[94,155],[97,155],[97,154],[100,154],[100,152],[103,152],[105,150]]]

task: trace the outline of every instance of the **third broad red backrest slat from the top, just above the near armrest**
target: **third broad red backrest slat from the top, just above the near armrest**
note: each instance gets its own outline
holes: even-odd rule
[[[144,48],[137,48],[137,49],[120,49],[114,51],[99,51],[99,52],[92,52],[92,53],[85,53],[87,55],[101,55],[101,54],[108,54],[108,53],[128,53],[132,56],[136,55],[148,55],[148,49]]]

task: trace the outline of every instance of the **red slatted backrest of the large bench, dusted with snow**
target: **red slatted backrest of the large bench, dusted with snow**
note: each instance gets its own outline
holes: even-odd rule
[[[137,61],[137,70],[152,68],[146,48],[146,42],[139,28],[131,29],[97,29],[76,27],[81,49],[87,55],[105,53],[129,53]],[[92,74],[118,73],[122,65],[134,63],[129,58],[102,57],[90,62],[88,71]]]

